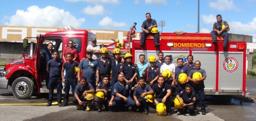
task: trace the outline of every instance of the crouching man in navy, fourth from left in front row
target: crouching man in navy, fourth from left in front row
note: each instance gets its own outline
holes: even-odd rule
[[[139,77],[139,86],[137,86],[133,93],[134,100],[132,101],[131,106],[136,109],[139,108],[139,112],[145,110],[145,114],[148,114],[149,111],[149,104],[150,102],[145,100],[145,96],[149,94],[153,94],[152,88],[145,84],[145,80],[143,77]],[[152,101],[153,99],[151,99]],[[153,101],[152,101],[153,102]]]

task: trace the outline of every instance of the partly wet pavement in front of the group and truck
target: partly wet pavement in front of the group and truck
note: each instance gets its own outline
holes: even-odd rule
[[[251,97],[256,97],[256,79],[247,79],[247,92]],[[13,96],[11,88],[8,90],[0,89],[0,104],[4,103],[47,103],[48,94],[35,94],[28,100],[19,100]],[[55,98],[56,100],[56,98]],[[77,120],[77,121],[158,121],[158,120],[194,120],[194,121],[255,121],[256,119],[256,103],[253,100],[244,100],[240,104],[240,96],[206,96],[206,115],[202,115],[200,107],[199,111],[195,111],[195,115],[176,115],[174,106],[172,105],[171,116],[158,116],[154,113],[154,109],[150,108],[150,114],[134,112],[101,112],[94,111],[77,111],[76,106],[69,102],[69,106],[59,107],[45,105],[0,105],[0,119],[4,120],[27,120],[27,121],[46,121],[46,120]]]

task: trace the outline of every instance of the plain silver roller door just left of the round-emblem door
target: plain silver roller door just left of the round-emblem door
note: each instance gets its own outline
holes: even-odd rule
[[[216,87],[216,54],[215,52],[193,52],[194,63],[196,60],[201,62],[201,69],[206,71],[204,80],[205,91],[215,91]]]

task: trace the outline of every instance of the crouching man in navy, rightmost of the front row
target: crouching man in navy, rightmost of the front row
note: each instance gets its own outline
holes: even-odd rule
[[[176,98],[180,102],[180,105],[183,106],[183,108],[178,109],[179,113],[177,113],[177,115],[187,113],[187,109],[189,109],[189,115],[193,115],[195,113],[194,104],[196,102],[196,97],[190,84],[186,84],[185,90],[182,90],[179,94],[177,94]]]

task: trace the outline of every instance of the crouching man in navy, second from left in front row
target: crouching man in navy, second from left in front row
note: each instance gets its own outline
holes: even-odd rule
[[[98,101],[98,112],[101,112],[101,108],[102,108],[102,104],[104,104],[105,107],[105,111],[108,111],[109,106],[112,106],[112,102],[115,98],[115,96],[111,96],[111,92],[113,90],[113,86],[110,84],[110,80],[108,76],[104,76],[102,78],[102,82],[98,83],[98,86],[96,87],[96,96],[98,96],[98,94],[102,94],[102,93],[98,93],[98,92],[103,92],[103,98],[98,96],[99,98],[101,98]],[[96,97],[95,96],[95,97]]]

